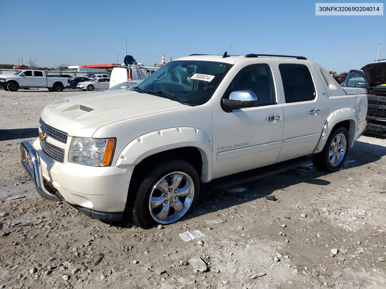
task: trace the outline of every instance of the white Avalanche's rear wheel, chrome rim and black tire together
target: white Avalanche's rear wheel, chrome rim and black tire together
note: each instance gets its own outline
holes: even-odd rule
[[[338,171],[344,165],[350,148],[349,132],[344,127],[335,129],[312,163],[320,171]]]

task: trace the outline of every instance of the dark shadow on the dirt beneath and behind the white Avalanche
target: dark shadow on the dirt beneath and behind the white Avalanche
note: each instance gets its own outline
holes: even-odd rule
[[[350,149],[348,158],[341,170],[366,165],[380,160],[381,157],[385,155],[386,146],[356,141]],[[228,193],[226,190],[210,189],[208,192],[200,194],[193,211],[180,221],[184,222],[193,217],[207,215],[235,205],[264,198],[277,190],[286,190],[286,188],[298,183],[308,183],[324,187],[329,185],[330,181],[320,179],[320,177],[326,175],[328,175],[328,173],[320,172],[312,164],[309,164],[284,173],[245,183],[241,185],[247,189],[244,192]],[[125,221],[111,224],[117,227],[130,228],[132,226],[130,222],[131,220],[129,220],[129,222]]]

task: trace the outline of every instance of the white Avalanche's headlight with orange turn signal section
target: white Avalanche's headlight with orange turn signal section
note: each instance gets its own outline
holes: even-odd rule
[[[110,166],[114,146],[114,138],[72,138],[68,161],[89,166]]]

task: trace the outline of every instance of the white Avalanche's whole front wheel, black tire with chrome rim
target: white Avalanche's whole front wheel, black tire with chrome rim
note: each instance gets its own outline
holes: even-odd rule
[[[164,161],[137,187],[133,222],[143,229],[174,223],[191,212],[199,192],[200,178],[193,165],[181,159]]]

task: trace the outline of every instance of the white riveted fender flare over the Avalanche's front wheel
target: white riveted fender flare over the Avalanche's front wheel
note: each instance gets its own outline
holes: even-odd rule
[[[190,127],[160,129],[139,136],[122,150],[116,166],[135,166],[137,170],[168,157],[189,161],[203,182],[212,178],[210,138],[200,129]]]

